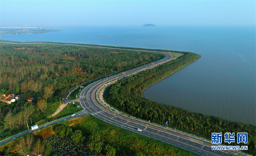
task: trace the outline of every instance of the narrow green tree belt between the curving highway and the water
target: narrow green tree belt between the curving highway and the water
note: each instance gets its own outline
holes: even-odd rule
[[[165,125],[168,121],[168,126],[171,128],[177,128],[178,130],[192,133],[209,140],[211,140],[211,133],[214,132],[222,132],[222,134],[226,132],[235,132],[235,134],[237,132],[247,132],[247,144],[231,143],[227,145],[247,145],[248,150],[244,152],[256,155],[256,127],[254,125],[232,122],[220,117],[190,112],[183,108],[148,100],[141,95],[142,90],[148,86],[200,58],[199,55],[194,53],[182,53],[185,55],[174,61],[111,85],[104,92],[105,100],[108,100],[115,108],[130,115],[162,125]],[[222,143],[224,143],[224,137],[222,139]]]

